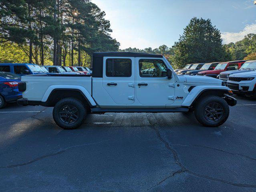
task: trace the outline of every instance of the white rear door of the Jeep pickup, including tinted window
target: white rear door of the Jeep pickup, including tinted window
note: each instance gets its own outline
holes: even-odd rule
[[[134,57],[103,58],[103,88],[116,104],[133,104]]]

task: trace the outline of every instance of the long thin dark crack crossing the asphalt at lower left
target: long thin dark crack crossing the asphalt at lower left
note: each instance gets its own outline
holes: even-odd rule
[[[100,142],[93,142],[93,143],[87,143],[87,144],[81,144],[81,145],[70,146],[70,147],[64,148],[63,150],[59,150],[58,152],[51,153],[51,154],[47,154],[47,155],[44,155],[44,156],[40,156],[40,157],[38,157],[38,158],[35,158],[35,159],[33,159],[33,160],[30,160],[30,161],[23,162],[23,163],[20,163],[20,164],[9,165],[9,166],[2,166],[2,167],[0,167],[0,169],[24,166],[24,165],[27,165],[27,164],[31,164],[31,163],[33,163],[33,162],[36,162],[36,161],[38,161],[38,160],[42,160],[42,159],[47,158],[47,157],[51,157],[51,156],[55,156],[55,155],[61,154],[61,153],[66,152],[67,150],[69,150],[69,149],[71,149],[71,148],[81,147],[81,146],[87,146],[87,145],[93,145],[93,144],[99,144],[99,143],[106,142],[106,141],[109,141],[109,140],[103,140],[103,141],[100,141]]]

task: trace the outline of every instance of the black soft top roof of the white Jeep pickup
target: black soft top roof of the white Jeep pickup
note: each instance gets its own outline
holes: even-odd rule
[[[103,57],[155,57],[162,58],[162,55],[134,52],[95,52],[93,53],[93,77],[103,77]]]

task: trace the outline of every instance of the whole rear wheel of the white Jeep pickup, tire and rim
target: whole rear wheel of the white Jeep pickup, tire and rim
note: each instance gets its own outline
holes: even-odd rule
[[[80,100],[64,98],[56,103],[52,116],[55,123],[63,129],[75,129],[83,124],[87,110]]]

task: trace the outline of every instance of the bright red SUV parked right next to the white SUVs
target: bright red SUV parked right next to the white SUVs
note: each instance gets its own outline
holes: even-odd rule
[[[238,70],[240,67],[246,62],[247,60],[240,60],[240,61],[228,61],[219,63],[214,70],[207,70],[198,72],[198,75],[204,75],[209,77],[217,78],[217,76],[224,71],[231,71],[231,70]]]

